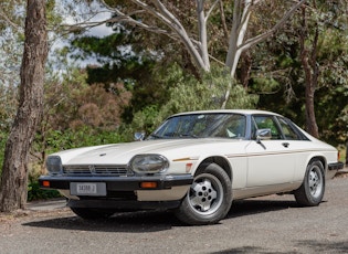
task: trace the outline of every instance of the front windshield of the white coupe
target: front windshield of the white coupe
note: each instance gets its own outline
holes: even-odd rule
[[[173,116],[155,130],[149,139],[209,137],[245,137],[245,116],[231,113]]]

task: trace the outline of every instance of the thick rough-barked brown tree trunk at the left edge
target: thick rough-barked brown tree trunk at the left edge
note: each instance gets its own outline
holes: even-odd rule
[[[0,186],[0,211],[24,209],[28,158],[43,107],[48,55],[45,0],[27,1],[25,42],[21,66],[20,102],[6,145]]]

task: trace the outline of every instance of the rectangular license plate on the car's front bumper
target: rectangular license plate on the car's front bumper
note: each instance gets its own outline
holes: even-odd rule
[[[70,193],[73,195],[106,195],[105,182],[71,182]]]

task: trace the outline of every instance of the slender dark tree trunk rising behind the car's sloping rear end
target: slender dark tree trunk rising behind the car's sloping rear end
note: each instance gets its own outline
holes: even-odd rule
[[[308,27],[306,22],[306,8],[302,9],[302,30],[299,32],[300,61],[305,72],[306,85],[306,130],[314,137],[319,137],[315,117],[314,95],[318,83],[319,68],[317,66],[318,27],[316,27],[314,40],[310,42],[312,50],[306,46]]]

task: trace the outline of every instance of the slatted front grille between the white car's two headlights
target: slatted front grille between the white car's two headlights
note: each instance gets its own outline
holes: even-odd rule
[[[131,176],[133,172],[124,165],[67,165],[63,167],[63,172],[73,176]]]

